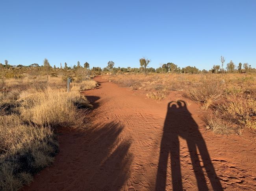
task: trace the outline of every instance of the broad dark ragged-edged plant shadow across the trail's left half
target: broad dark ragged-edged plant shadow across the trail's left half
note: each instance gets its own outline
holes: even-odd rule
[[[56,162],[22,190],[121,190],[132,163],[131,140],[120,136],[123,128],[110,122],[80,130],[61,129]]]

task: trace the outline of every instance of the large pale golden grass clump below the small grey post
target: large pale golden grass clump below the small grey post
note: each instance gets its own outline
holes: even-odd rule
[[[24,96],[24,93],[21,95]],[[20,114],[24,121],[41,126],[68,127],[82,124],[83,117],[78,115],[73,99],[65,89],[48,87],[43,91],[33,90],[30,95],[20,98]]]

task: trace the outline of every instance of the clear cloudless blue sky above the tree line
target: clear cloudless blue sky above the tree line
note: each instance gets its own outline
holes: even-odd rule
[[[256,0],[2,0],[0,62],[256,67]]]

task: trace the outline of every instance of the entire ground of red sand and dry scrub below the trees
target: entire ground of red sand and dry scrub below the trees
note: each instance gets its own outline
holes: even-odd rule
[[[254,72],[36,66],[0,76],[0,190],[256,186]]]

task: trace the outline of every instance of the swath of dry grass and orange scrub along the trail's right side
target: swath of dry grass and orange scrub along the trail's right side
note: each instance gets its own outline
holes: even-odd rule
[[[202,109],[208,110],[203,118],[206,127],[215,133],[241,134],[243,128],[251,129],[255,133],[256,76],[255,73],[239,73],[150,73],[147,76],[126,73],[105,75],[104,78],[133,90],[141,89],[146,92],[148,98],[155,100],[165,99],[171,91],[181,91],[185,98],[201,104]]]

